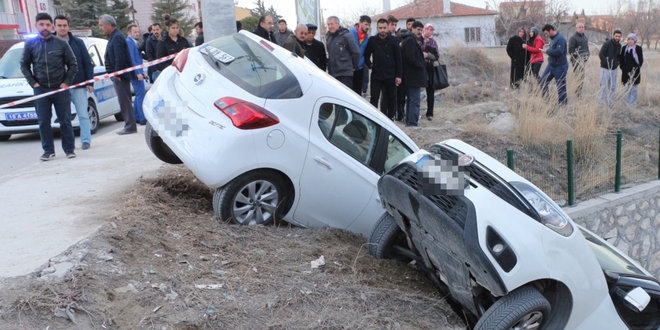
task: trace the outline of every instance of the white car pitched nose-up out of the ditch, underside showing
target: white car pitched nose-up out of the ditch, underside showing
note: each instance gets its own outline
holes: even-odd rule
[[[462,141],[410,155],[378,189],[370,252],[415,260],[474,329],[660,327],[657,279]]]

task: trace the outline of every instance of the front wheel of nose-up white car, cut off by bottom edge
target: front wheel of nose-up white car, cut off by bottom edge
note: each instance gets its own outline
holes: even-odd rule
[[[522,287],[496,301],[481,316],[475,330],[541,329],[550,303],[533,287]]]

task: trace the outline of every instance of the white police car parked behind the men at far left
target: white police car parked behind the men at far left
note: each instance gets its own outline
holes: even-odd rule
[[[107,40],[99,38],[81,38],[94,63],[94,74],[105,74],[103,64]],[[21,58],[25,42],[13,45],[0,59],[0,104],[14,102],[34,95],[32,87],[21,73]],[[92,134],[96,132],[99,121],[105,117],[114,115],[117,120],[122,120],[117,101],[117,93],[109,79],[94,82],[94,93],[88,94],[88,108],[90,129]],[[55,109],[53,109],[53,129],[59,129]],[[80,127],[76,108],[71,103],[71,124],[74,128]],[[0,109],[0,141],[7,141],[12,134],[38,132],[37,113],[34,101],[18,104],[13,107]]]

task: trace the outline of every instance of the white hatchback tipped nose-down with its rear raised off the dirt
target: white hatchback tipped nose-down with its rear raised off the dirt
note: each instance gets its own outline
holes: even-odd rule
[[[216,188],[216,215],[240,224],[367,236],[385,212],[378,178],[418,150],[310,61],[246,31],[180,52],[144,114],[152,152]]]

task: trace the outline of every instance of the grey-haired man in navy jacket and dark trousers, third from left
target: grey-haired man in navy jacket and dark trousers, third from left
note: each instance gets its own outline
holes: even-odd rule
[[[105,70],[108,73],[131,67],[131,54],[124,35],[117,29],[117,22],[110,15],[99,17],[99,29],[109,40],[105,49]],[[119,135],[137,133],[133,105],[131,104],[131,79],[137,79],[135,72],[126,72],[112,78],[112,84],[117,92],[117,100],[124,118],[124,128]]]

